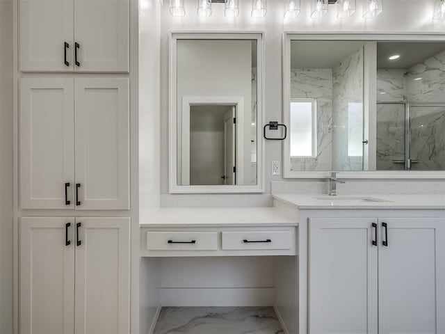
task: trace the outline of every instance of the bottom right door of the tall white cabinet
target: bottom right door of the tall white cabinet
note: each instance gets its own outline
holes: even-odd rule
[[[76,334],[127,334],[129,218],[76,218]]]

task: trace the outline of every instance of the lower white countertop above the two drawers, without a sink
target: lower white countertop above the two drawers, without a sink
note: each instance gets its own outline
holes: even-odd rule
[[[163,207],[143,228],[297,226],[275,207]]]

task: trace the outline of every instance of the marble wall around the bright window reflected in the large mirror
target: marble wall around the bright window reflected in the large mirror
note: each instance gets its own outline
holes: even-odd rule
[[[332,169],[332,70],[291,69],[291,98],[317,101],[317,156],[291,159],[292,170]]]

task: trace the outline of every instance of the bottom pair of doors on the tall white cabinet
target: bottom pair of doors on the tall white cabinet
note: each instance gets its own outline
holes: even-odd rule
[[[129,230],[129,218],[22,218],[20,333],[129,333]]]

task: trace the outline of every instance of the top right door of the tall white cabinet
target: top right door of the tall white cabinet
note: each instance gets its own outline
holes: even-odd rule
[[[129,0],[74,0],[76,72],[129,72]]]

